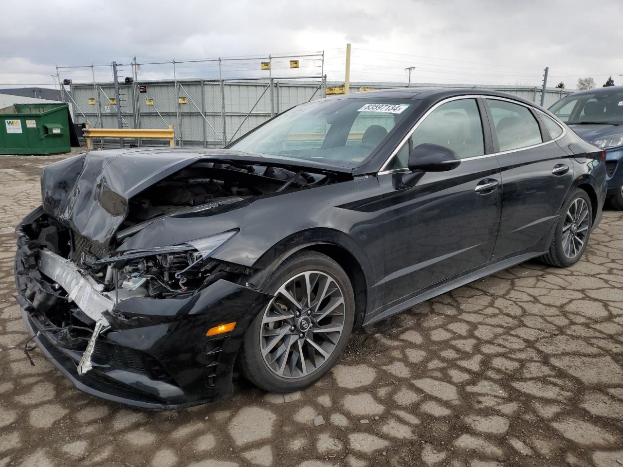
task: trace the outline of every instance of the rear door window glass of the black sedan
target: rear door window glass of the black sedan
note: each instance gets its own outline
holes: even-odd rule
[[[541,130],[528,107],[504,100],[487,99],[498,136],[500,152],[543,143]]]

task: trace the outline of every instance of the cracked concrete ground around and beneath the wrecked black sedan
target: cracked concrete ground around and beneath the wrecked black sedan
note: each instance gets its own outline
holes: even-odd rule
[[[0,467],[623,465],[623,213],[574,267],[524,263],[355,334],[307,390],[149,412],[22,352],[12,229],[56,159],[0,158]]]

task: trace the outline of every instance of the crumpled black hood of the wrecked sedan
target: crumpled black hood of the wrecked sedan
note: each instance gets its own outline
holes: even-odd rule
[[[131,197],[198,161],[261,164],[317,173],[351,173],[347,167],[227,149],[90,151],[44,168],[41,174],[43,209],[83,237],[108,245],[128,214]]]

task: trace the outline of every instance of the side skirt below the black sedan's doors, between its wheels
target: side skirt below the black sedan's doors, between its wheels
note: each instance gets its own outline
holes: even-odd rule
[[[436,286],[432,289],[422,292],[419,295],[409,298],[409,300],[396,304],[392,306],[391,308],[388,308],[385,311],[379,314],[376,314],[375,316],[370,316],[369,318],[364,319],[362,326],[368,326],[369,324],[374,324],[377,321],[381,321],[381,319],[385,319],[385,318],[388,318],[389,316],[392,316],[392,314],[401,313],[401,311],[406,311],[407,309],[412,308],[413,306],[416,306],[418,303],[422,303],[422,301],[429,300],[430,298],[436,297],[437,295],[442,295],[446,292],[449,292],[450,290],[467,285],[470,282],[473,282],[478,279],[482,279],[483,277],[492,275],[493,273],[497,273],[498,271],[508,269],[512,266],[531,260],[532,258],[540,257],[541,255],[544,255],[546,252],[547,251],[538,252],[538,253],[535,253],[535,252],[523,253],[522,255],[507,258],[500,262],[489,264],[483,268],[479,268],[477,270],[471,271],[465,275],[455,278],[454,280],[450,280],[448,282],[442,283],[439,286]]]

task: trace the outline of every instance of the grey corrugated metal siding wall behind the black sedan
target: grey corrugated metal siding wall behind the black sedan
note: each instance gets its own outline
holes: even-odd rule
[[[123,126],[133,128],[135,119],[139,128],[166,128],[172,125],[176,139],[186,145],[222,146],[224,133],[226,141],[232,136],[238,138],[247,131],[264,123],[270,118],[270,89],[268,80],[236,80],[223,83],[224,102],[221,98],[221,82],[203,80],[180,80],[176,90],[173,80],[140,82],[134,85],[120,85],[120,108],[123,116]],[[323,90],[318,89],[320,81],[310,80],[279,80],[273,83],[274,112],[279,113],[288,108],[307,102],[310,99],[319,99]],[[343,83],[326,83],[328,86]],[[146,86],[146,93],[139,93],[139,86]],[[351,92],[359,92],[360,87],[396,88],[404,87],[404,83],[383,82],[352,82]],[[444,85],[439,83],[418,83],[417,86],[431,87],[468,87],[488,88],[507,92],[518,97],[539,102],[541,88],[531,86],[474,86],[474,85]],[[184,90],[186,92],[184,92]],[[97,98],[93,84],[72,85],[74,100],[82,109],[82,113],[74,106],[74,121],[87,123],[99,128],[117,128],[117,113],[114,105],[108,105],[108,98],[115,97],[112,83],[99,83],[98,93],[100,110],[97,105],[88,105],[88,98]],[[188,93],[188,95],[187,95]],[[264,93],[264,95],[262,95]],[[573,90],[559,90],[548,88],[545,95],[545,107],[549,107],[559,98]],[[178,105],[179,97],[186,97],[187,103]],[[260,98],[261,96],[261,98]],[[153,106],[146,105],[146,98],[153,99]],[[192,100],[191,100],[192,99]],[[259,101],[258,101],[259,100]],[[193,104],[194,101],[194,104]],[[257,104],[256,104],[257,103]],[[195,106],[196,105],[196,106]],[[106,110],[108,106],[108,110]],[[179,110],[179,120],[178,120]],[[135,115],[136,111],[136,115]],[[223,131],[223,116],[225,114],[225,132]],[[101,121],[98,115],[102,116]],[[247,114],[249,116],[247,117]],[[181,122],[181,125],[179,123]],[[373,119],[366,120],[359,125],[364,131],[366,125],[383,125]],[[239,128],[240,127],[240,128]],[[179,142],[179,141],[178,141]],[[153,144],[154,141],[150,141]],[[163,144],[156,141],[156,144]]]

